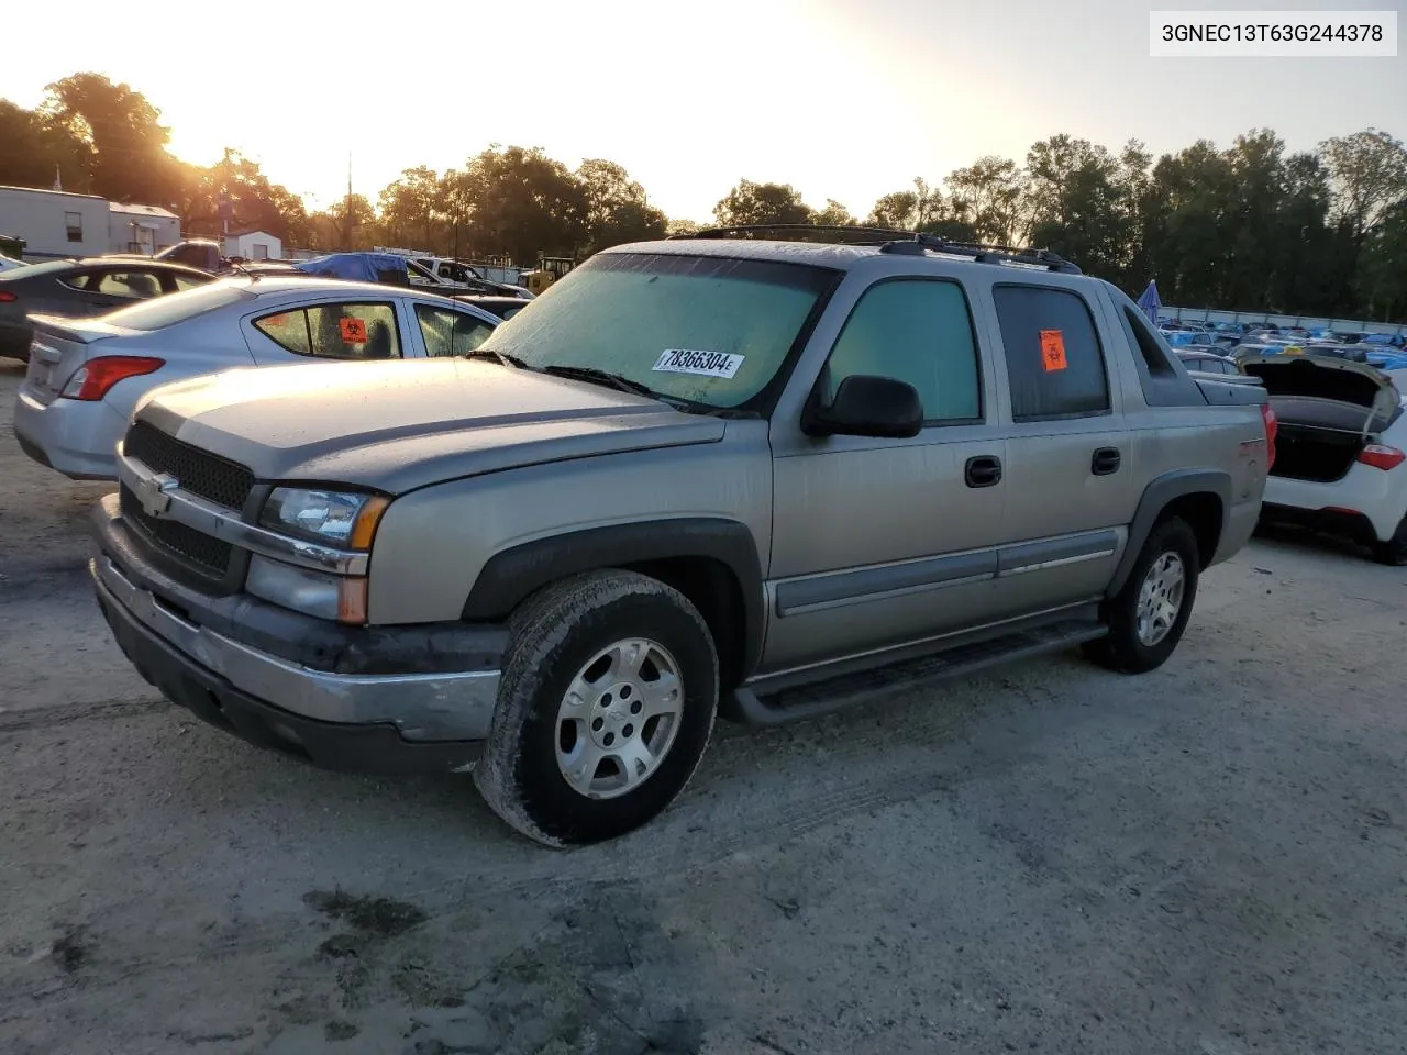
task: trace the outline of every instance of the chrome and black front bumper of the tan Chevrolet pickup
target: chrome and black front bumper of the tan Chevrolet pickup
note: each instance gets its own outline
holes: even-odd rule
[[[331,769],[453,771],[478,757],[502,629],[345,629],[245,595],[212,598],[142,560],[113,497],[94,519],[98,605],[128,660],[173,703]],[[471,668],[429,670],[446,654]]]

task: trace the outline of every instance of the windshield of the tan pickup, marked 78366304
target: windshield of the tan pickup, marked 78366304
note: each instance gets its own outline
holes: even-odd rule
[[[488,343],[533,369],[605,370],[666,398],[736,408],[777,376],[834,277],[770,260],[602,253]]]

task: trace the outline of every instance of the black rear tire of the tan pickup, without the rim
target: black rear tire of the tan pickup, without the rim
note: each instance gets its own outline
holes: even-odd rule
[[[1148,570],[1168,553],[1182,560],[1185,575],[1182,603],[1168,634],[1157,644],[1144,644],[1138,637],[1138,592]],[[1197,599],[1199,567],[1197,536],[1192,533],[1186,520],[1169,518],[1155,525],[1123,589],[1104,603],[1109,636],[1085,644],[1085,657],[1120,674],[1145,674],[1166,663],[1182,640],[1182,632],[1186,630],[1188,619],[1192,616],[1192,606]]]

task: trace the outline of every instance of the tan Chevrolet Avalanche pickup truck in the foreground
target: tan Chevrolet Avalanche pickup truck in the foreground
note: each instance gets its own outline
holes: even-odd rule
[[[1076,644],[1154,670],[1272,453],[1265,392],[1113,284],[923,236],[618,246],[474,359],[153,392],[90,570],[173,702],[473,771],[554,845],[663,810],[716,713]]]

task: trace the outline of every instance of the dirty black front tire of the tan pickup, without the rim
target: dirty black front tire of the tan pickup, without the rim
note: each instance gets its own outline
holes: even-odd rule
[[[657,641],[677,660],[684,706],[658,768],[609,799],[587,798],[557,764],[559,706],[592,656],[622,639]],[[509,826],[553,847],[599,843],[640,827],[689,782],[718,710],[718,654],[708,625],[677,589],[632,571],[592,571],[546,587],[509,620],[498,706],[474,784]]]

